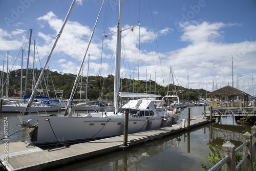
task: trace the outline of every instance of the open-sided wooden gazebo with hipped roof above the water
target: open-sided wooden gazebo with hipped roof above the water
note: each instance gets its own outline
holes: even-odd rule
[[[249,94],[231,86],[226,86],[211,93],[209,108],[244,108],[248,106]]]

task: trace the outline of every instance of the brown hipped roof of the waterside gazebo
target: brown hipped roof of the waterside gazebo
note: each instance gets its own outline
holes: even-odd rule
[[[236,88],[233,88],[229,85],[209,93],[209,95],[227,95],[227,94],[228,95],[248,95],[249,96],[249,94],[242,92],[241,90],[238,90]]]

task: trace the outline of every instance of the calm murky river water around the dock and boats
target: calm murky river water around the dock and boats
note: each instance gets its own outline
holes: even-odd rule
[[[203,111],[203,106],[192,106],[190,116],[201,115]],[[187,108],[181,112],[179,122],[186,117]],[[20,124],[17,114],[2,114],[0,139],[4,138],[4,120],[8,120],[8,135],[20,130],[16,125]],[[222,145],[225,140],[229,140],[238,147],[242,144],[242,135],[251,133],[250,129],[251,126],[236,124],[233,117],[224,117],[220,123],[207,123],[189,131],[132,146],[126,151],[112,152],[51,170],[204,170],[200,162],[209,165],[208,144]],[[15,141],[29,141],[29,138],[22,130],[9,137],[9,142]]]

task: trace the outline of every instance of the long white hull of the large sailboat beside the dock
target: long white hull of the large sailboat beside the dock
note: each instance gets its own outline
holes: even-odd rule
[[[173,117],[131,117],[129,115],[128,133],[174,124],[179,117],[179,115]],[[27,127],[26,131],[31,142],[37,146],[57,145],[60,142],[78,143],[118,136],[123,134],[124,125],[124,115],[122,114],[118,114],[116,117],[18,115],[18,118],[24,125],[30,124],[30,128]]]

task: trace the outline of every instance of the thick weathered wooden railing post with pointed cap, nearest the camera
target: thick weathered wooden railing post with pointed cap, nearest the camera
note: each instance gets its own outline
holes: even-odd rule
[[[222,149],[222,158],[226,155],[229,156],[228,160],[223,166],[223,171],[235,171],[236,170],[236,145],[232,144],[230,141],[227,141],[221,146]]]

